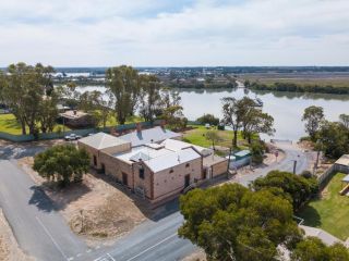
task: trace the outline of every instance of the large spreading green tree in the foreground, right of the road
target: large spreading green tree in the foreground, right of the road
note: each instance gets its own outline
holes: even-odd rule
[[[203,248],[208,260],[269,261],[278,257],[278,245],[301,239],[292,206],[268,190],[239,184],[194,189],[181,197],[180,210],[179,235]]]

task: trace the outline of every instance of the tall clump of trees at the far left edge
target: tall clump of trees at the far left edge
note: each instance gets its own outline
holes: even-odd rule
[[[37,135],[39,126],[45,133],[51,130],[57,117],[58,102],[51,80],[51,66],[38,63],[35,66],[25,63],[11,64],[7,74],[0,75],[0,97],[11,109],[22,126],[22,134]],[[49,111],[43,111],[47,108]]]

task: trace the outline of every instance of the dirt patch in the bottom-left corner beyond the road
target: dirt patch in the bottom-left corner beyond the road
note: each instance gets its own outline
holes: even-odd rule
[[[1,261],[34,261],[19,247],[12,231],[0,209],[0,260]]]

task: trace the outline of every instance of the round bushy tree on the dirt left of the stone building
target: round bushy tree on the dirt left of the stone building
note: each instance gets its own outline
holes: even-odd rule
[[[72,181],[81,182],[88,167],[88,153],[73,145],[53,146],[36,154],[33,166],[47,181],[58,182],[63,186]]]

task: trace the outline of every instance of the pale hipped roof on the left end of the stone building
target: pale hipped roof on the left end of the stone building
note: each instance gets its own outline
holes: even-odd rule
[[[119,145],[130,144],[127,140],[117,138],[112,135],[105,134],[105,133],[97,133],[95,135],[82,138],[79,140],[79,142],[87,145],[98,150],[111,148]]]

